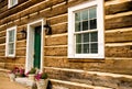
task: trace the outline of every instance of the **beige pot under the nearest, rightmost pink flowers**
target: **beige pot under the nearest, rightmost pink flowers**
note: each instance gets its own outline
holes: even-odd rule
[[[37,89],[46,89],[48,79],[40,79],[36,81]]]

